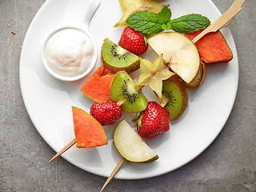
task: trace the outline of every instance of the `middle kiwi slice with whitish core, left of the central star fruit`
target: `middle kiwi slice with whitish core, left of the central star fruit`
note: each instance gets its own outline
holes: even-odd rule
[[[114,76],[110,87],[110,98],[113,102],[121,103],[121,109],[127,113],[138,113],[146,109],[147,98],[142,90],[137,90],[134,80],[126,71]]]

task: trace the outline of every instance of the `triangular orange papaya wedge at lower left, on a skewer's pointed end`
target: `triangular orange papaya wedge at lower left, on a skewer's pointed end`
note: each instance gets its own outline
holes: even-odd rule
[[[92,148],[107,144],[102,125],[86,111],[72,106],[74,135],[78,148]]]

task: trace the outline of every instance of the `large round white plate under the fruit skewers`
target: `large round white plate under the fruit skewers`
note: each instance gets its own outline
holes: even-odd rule
[[[118,43],[123,30],[123,27],[113,27],[122,16],[118,0],[102,1],[89,28],[98,48],[96,66],[86,78],[76,82],[62,82],[53,78],[42,65],[42,43],[54,29],[67,23],[75,26],[79,19],[86,17],[86,1],[82,1],[84,6],[77,6],[76,2],[78,0],[46,1],[30,24],[20,58],[20,84],[26,110],[39,134],[56,152],[74,138],[71,106],[89,112],[93,104],[80,89],[97,66],[101,65],[100,50],[103,40],[110,38]],[[170,4],[172,18],[197,13],[206,15],[214,22],[221,15],[210,0],[162,1],[162,4]],[[72,17],[74,15],[77,18]],[[228,29],[223,29],[222,34],[233,51],[233,60],[229,63],[207,65],[206,79],[202,86],[188,90],[189,104],[185,113],[170,123],[168,132],[145,140],[158,154],[158,161],[148,164],[126,162],[115,178],[150,178],[175,170],[196,158],[218,136],[230,115],[238,88],[238,56],[234,39]],[[153,62],[156,55],[148,50],[144,57]],[[134,72],[132,77],[136,78],[138,73]],[[149,100],[156,99],[147,86],[143,90]],[[123,114],[122,118],[135,126],[130,121],[134,115]],[[94,149],[72,146],[62,154],[62,158],[82,170],[108,177],[121,156],[112,139],[114,126],[105,127],[105,130],[108,145]]]

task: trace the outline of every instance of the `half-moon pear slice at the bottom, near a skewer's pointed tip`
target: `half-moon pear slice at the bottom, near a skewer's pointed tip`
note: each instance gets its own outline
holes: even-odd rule
[[[126,120],[115,128],[113,140],[118,152],[130,162],[154,162],[158,159],[158,154],[146,145]]]

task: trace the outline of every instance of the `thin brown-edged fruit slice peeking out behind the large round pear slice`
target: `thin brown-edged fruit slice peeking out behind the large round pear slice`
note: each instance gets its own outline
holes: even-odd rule
[[[205,77],[206,77],[206,63],[201,61],[198,69],[198,73],[196,74],[194,79],[189,84],[184,82],[184,86],[190,87],[190,88],[201,86]]]

